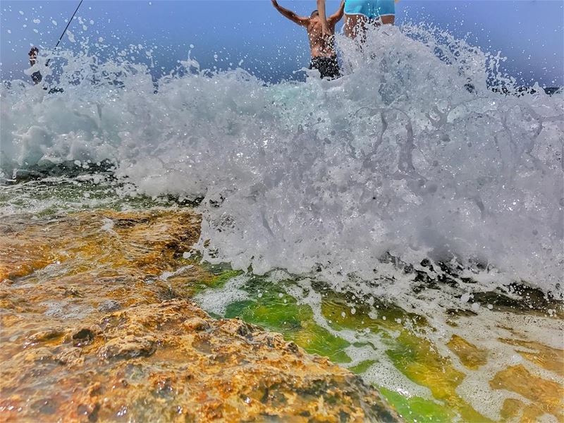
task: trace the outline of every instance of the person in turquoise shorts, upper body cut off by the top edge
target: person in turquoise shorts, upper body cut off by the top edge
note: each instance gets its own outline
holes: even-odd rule
[[[325,14],[325,0],[317,0],[323,34],[331,33]],[[393,25],[396,20],[394,0],[345,0],[345,35],[364,41],[368,25]]]

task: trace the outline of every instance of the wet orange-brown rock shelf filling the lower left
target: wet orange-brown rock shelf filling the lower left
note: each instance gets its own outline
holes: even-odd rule
[[[0,419],[400,419],[347,370],[190,302],[190,281],[211,277],[181,259],[199,223],[187,212],[2,221]],[[178,269],[183,282],[168,281]]]

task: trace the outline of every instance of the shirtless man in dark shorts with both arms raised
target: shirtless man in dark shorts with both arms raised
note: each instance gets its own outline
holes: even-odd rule
[[[305,18],[296,15],[287,8],[283,8],[276,0],[271,1],[278,12],[307,30],[309,48],[312,54],[309,68],[317,69],[321,73],[321,78],[338,78],[341,75],[341,71],[339,70],[337,54],[333,45],[333,35],[335,35],[335,25],[343,18],[344,2],[341,3],[335,14],[329,16],[329,19],[324,18],[326,31],[323,33],[321,30],[321,18],[317,11],[313,11],[309,18]]]

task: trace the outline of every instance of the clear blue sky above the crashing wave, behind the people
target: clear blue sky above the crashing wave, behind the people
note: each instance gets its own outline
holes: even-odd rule
[[[77,4],[0,1],[1,78],[27,80],[30,44],[54,46]],[[315,8],[314,0],[280,4],[304,15]],[[337,7],[338,1],[328,1],[331,11]],[[501,50],[507,70],[525,83],[564,85],[563,0],[400,0],[396,12],[399,24],[435,23],[458,37],[469,35],[483,50]],[[243,59],[241,67],[272,80],[292,78],[309,62],[305,30],[280,16],[269,0],[84,0],[77,17],[82,23],[75,18],[70,29],[91,46],[157,46],[155,71],[168,71],[189,50],[205,68],[237,66]],[[61,47],[78,44],[65,37]]]

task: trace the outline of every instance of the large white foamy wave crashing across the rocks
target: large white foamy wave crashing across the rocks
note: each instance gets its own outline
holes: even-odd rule
[[[2,88],[4,176],[110,159],[133,192],[203,197],[204,259],[255,274],[394,295],[370,282],[440,276],[427,259],[561,295],[563,94],[491,92],[511,89],[503,58],[427,27],[350,43],[343,78],[276,85],[192,59],[154,83],[142,65],[61,53],[65,92]]]

